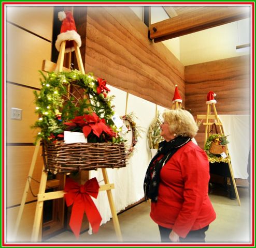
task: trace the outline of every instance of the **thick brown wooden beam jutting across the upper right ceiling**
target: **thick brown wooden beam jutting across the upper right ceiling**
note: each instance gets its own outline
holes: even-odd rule
[[[154,42],[160,42],[248,17],[249,7],[195,7],[186,14],[151,24],[149,36]]]

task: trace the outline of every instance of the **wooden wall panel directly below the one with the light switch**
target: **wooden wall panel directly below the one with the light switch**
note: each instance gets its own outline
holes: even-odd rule
[[[8,166],[6,167],[6,200],[7,207],[20,204],[22,199],[22,194],[25,189],[25,184],[27,180],[27,175],[29,174],[29,169],[34,153],[34,146],[7,146],[7,159],[6,162]],[[42,171],[42,157],[41,148],[39,150],[36,165],[33,173],[33,178],[40,181],[41,171]],[[33,194],[37,195],[39,189],[39,183],[32,180],[31,188]],[[27,201],[36,200],[37,198],[32,195],[29,191],[27,194]]]

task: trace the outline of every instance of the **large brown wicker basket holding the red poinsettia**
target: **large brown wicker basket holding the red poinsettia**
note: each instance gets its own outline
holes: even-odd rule
[[[54,174],[126,166],[124,144],[43,142],[42,148],[45,168]]]

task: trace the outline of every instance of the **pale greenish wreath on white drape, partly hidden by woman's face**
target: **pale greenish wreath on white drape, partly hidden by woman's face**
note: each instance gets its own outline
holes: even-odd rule
[[[150,149],[158,149],[158,144],[163,141],[163,137],[160,135],[161,123],[162,121],[160,119],[160,113],[158,111],[156,117],[152,120],[148,130],[148,141]]]

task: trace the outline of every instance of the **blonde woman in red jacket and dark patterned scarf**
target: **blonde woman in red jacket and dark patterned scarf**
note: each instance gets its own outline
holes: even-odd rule
[[[147,169],[144,190],[151,198],[151,219],[162,242],[205,242],[205,231],[216,219],[208,197],[209,162],[193,138],[198,130],[186,110],[163,114],[157,154]]]

